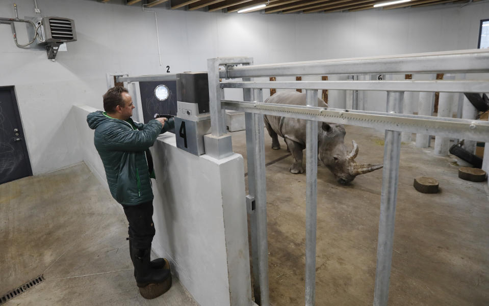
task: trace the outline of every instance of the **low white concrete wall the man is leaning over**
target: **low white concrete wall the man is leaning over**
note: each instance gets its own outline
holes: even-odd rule
[[[95,110],[73,106],[71,125],[82,159],[108,188],[86,122]],[[173,274],[201,306],[251,305],[243,157],[195,156],[176,148],[172,133],[160,135],[151,153],[157,176],[153,251],[170,260]]]

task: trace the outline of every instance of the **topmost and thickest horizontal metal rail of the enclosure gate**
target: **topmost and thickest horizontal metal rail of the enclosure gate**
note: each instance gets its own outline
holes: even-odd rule
[[[472,49],[387,57],[227,67],[222,78],[356,73],[475,73],[489,71],[489,50]]]

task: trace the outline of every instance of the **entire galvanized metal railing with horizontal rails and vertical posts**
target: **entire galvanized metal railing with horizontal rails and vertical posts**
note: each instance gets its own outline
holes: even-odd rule
[[[242,64],[240,66],[239,64]],[[382,192],[377,245],[374,306],[387,305],[392,264],[394,222],[399,176],[401,131],[489,142],[489,122],[403,115],[404,91],[489,92],[489,80],[432,81],[251,81],[251,77],[363,73],[489,72],[489,51],[461,50],[345,60],[252,65],[250,58],[208,60],[212,134],[226,133],[224,109],[245,112],[248,160],[247,196],[251,216],[251,249],[255,302],[268,306],[268,242],[265,178],[264,115],[307,120],[306,126],[306,262],[305,304],[315,304],[317,133],[316,121],[385,129]],[[219,78],[243,78],[220,82]],[[223,100],[223,88],[243,88],[245,101]],[[306,90],[307,106],[263,103],[262,89]],[[382,112],[317,107],[317,90],[387,91]]]

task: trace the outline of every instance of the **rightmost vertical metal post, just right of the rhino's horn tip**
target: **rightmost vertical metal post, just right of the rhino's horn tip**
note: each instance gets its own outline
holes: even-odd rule
[[[387,112],[401,113],[403,92],[387,93]],[[387,306],[391,279],[392,248],[396,217],[397,183],[401,132],[385,131],[382,193],[380,198],[379,235],[377,243],[377,269],[375,275],[374,306]]]

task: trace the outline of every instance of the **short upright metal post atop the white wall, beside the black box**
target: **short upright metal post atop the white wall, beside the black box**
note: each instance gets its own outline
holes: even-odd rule
[[[211,113],[212,135],[222,136],[226,133],[226,114],[221,107],[221,88],[219,86],[219,59],[207,60],[209,78],[209,108]]]

